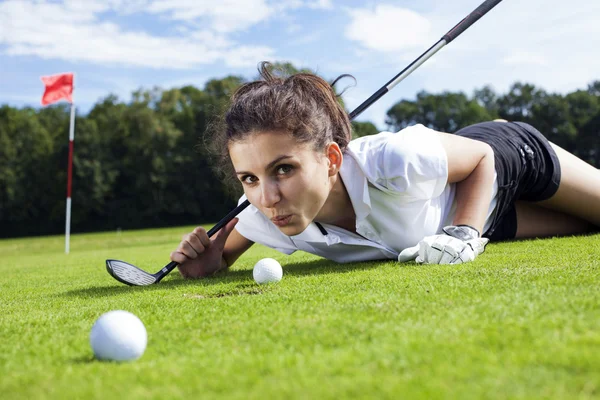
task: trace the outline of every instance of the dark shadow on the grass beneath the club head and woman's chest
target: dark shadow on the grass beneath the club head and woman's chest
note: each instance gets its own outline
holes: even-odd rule
[[[365,270],[376,268],[385,262],[386,260],[375,260],[369,262],[360,263],[348,263],[348,264],[336,264],[329,260],[315,260],[309,262],[295,262],[284,264],[284,275],[285,276],[310,276],[318,274],[339,274],[347,273],[358,270]],[[174,273],[170,277],[166,278],[155,285],[148,286],[127,286],[123,284],[111,284],[108,286],[94,286],[86,287],[81,289],[69,290],[64,292],[63,295],[67,297],[104,297],[114,296],[124,293],[133,293],[135,291],[154,291],[164,290],[166,288],[200,288],[206,286],[212,286],[216,284],[238,282],[236,285],[238,290],[234,290],[233,294],[259,294],[262,291],[258,289],[255,283],[248,283],[249,279],[252,279],[252,271],[250,270],[230,270],[225,271],[214,276],[204,279],[183,279],[177,273]],[[220,294],[210,294],[206,297],[222,297]]]

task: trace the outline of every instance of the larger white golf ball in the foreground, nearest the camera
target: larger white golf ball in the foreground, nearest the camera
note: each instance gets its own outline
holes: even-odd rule
[[[130,361],[146,350],[148,334],[138,317],[123,310],[102,314],[90,332],[90,344],[99,360]]]

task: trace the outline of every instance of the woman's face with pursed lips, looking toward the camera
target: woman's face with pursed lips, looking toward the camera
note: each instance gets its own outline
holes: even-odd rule
[[[250,203],[288,236],[304,231],[329,196],[336,170],[327,151],[290,134],[255,133],[229,154]]]

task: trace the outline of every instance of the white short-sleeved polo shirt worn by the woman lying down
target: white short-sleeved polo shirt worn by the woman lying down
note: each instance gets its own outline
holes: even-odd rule
[[[303,250],[352,262],[396,259],[403,249],[452,224],[455,184],[447,184],[446,152],[436,132],[423,125],[351,141],[340,176],[354,207],[358,235],[311,223],[302,233],[287,236],[253,205],[239,214],[236,230],[285,254]],[[497,188],[494,178],[484,231],[493,219]],[[239,202],[244,200],[246,196]]]

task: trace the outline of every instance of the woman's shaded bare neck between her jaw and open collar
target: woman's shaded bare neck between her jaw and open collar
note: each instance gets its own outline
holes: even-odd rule
[[[356,232],[356,214],[346,190],[346,185],[344,185],[339,173],[333,179],[335,181],[329,192],[329,197],[327,197],[321,211],[317,214],[315,221]]]

